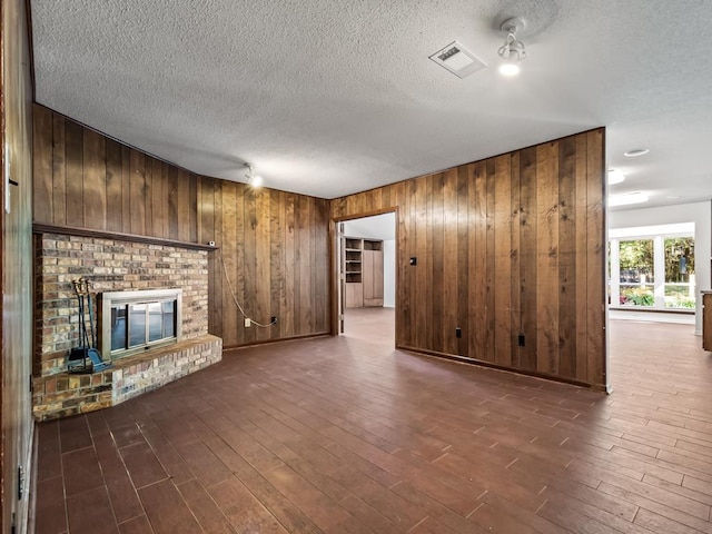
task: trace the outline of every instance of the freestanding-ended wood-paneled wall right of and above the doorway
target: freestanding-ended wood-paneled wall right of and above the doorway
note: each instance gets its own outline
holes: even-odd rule
[[[397,346],[605,386],[604,135],[332,201],[397,209]]]

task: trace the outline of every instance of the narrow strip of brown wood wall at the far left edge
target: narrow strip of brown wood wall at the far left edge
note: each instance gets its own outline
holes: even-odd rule
[[[32,82],[24,0],[2,2],[2,375],[0,530],[26,532],[30,494],[32,405]],[[6,158],[9,157],[9,161]],[[12,180],[4,209],[6,172]],[[22,473],[22,475],[20,475]],[[20,491],[21,488],[21,498]],[[14,528],[13,528],[14,526]]]

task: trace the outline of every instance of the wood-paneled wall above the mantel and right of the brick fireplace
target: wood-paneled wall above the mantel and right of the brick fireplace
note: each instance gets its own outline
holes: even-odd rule
[[[225,347],[328,333],[328,200],[199,176],[42,106],[33,142],[36,222],[216,243],[209,332]],[[245,328],[231,291],[277,324]]]

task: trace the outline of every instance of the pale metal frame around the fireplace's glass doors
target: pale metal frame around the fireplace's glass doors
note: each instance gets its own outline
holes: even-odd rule
[[[130,345],[130,342],[126,344],[125,348],[112,349],[112,320],[116,319],[116,314],[112,314],[112,308],[122,307],[126,313],[127,333],[126,337],[130,339],[130,322],[128,318],[129,309],[141,305],[149,305],[159,303],[161,310],[165,303],[174,304],[174,336],[161,337],[160,339],[150,340],[150,336],[147,335],[145,343],[138,345]],[[180,342],[181,338],[181,325],[182,325],[182,289],[142,289],[135,291],[105,291],[99,295],[98,303],[98,334],[99,346],[101,347],[101,354],[105,359],[117,359],[125,356],[130,356],[137,353],[144,353],[151,348],[162,347]],[[149,314],[146,315],[146,332],[149,330]],[[113,318],[113,319],[112,319]],[[162,320],[162,312],[161,312]]]

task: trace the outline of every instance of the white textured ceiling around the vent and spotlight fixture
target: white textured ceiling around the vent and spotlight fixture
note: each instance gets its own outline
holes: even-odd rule
[[[31,0],[37,101],[202,175],[334,198],[590,128],[612,192],[712,198],[709,0]],[[528,59],[497,72],[523,17]],[[428,59],[459,41],[488,68]],[[625,158],[632,148],[647,156]]]

